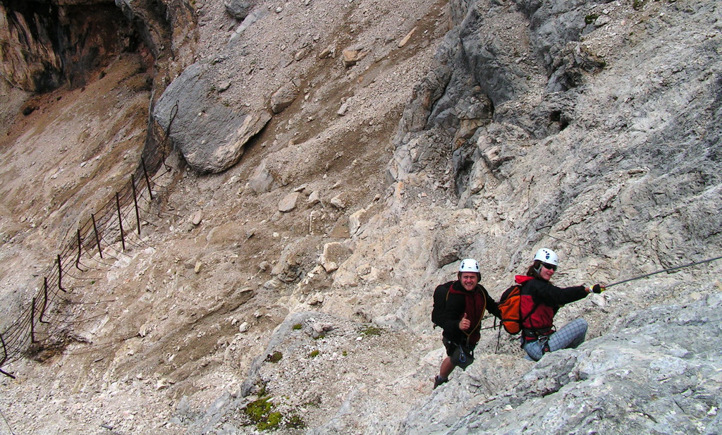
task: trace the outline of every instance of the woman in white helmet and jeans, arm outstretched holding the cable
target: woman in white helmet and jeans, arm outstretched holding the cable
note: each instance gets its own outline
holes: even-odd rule
[[[558,265],[557,254],[544,247],[534,255],[534,263],[529,266],[526,276],[516,276],[517,284],[521,285],[521,347],[534,361],[539,361],[544,353],[575,348],[583,343],[586,320],[573,320],[557,331],[554,330],[554,315],[562,305],[604,290],[600,284],[565,289],[552,285],[549,281]]]

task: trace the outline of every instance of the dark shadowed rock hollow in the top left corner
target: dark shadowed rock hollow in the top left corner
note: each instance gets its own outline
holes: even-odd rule
[[[142,43],[113,1],[3,1],[0,17],[1,74],[26,91],[81,87]]]

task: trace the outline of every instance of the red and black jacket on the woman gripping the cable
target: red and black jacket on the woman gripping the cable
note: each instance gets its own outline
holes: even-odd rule
[[[587,296],[584,286],[561,289],[549,281],[523,275],[517,275],[516,282],[521,284],[521,318],[525,319],[521,327],[527,340],[552,332],[559,307]]]

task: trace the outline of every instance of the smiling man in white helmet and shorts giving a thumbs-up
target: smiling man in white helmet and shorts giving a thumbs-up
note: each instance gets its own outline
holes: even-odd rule
[[[441,340],[447,355],[434,378],[434,388],[447,382],[456,366],[466,369],[474,361],[484,311],[501,317],[497,303],[479,284],[481,273],[477,260],[462,260],[456,277],[456,281],[441,284],[434,291],[432,320],[443,328]]]

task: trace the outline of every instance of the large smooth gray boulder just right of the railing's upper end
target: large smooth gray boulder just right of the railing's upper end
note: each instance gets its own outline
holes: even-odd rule
[[[241,113],[223,105],[208,72],[208,63],[193,63],[168,85],[153,110],[186,162],[201,173],[232,167],[271,119],[266,110]]]

